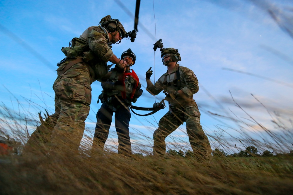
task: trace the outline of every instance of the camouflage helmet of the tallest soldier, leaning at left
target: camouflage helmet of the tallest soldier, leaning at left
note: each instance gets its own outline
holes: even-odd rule
[[[115,32],[117,30],[123,39],[126,35],[126,31],[118,19],[112,19],[111,15],[107,15],[101,19],[100,24],[106,28],[109,32]]]

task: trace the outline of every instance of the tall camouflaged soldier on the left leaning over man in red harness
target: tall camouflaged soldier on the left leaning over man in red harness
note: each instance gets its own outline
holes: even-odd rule
[[[124,69],[127,63],[112,52],[112,43],[125,37],[125,30],[118,19],[110,15],[102,18],[99,26],[86,29],[79,38],[72,39],[70,47],[62,48],[67,56],[58,63],[55,92],[55,113],[31,135],[25,148],[28,152],[50,154],[78,152],[83,136],[85,120],[91,104],[91,83],[102,81],[107,74],[107,62]]]

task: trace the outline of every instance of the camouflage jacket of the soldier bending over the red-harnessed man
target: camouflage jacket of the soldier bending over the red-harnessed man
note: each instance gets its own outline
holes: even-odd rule
[[[81,71],[89,71],[91,82],[101,81],[101,78],[108,72],[107,62],[114,55],[108,42],[109,34],[105,28],[100,25],[88,27],[79,38],[72,40],[72,46],[85,46],[86,51],[79,56],[84,58],[84,62],[73,65],[62,76],[71,76]],[[65,65],[75,59],[69,58],[59,66],[57,71],[62,70]]]

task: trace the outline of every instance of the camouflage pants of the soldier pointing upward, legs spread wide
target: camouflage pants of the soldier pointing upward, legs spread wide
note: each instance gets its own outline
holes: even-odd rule
[[[185,108],[173,107],[160,119],[159,127],[153,134],[154,154],[165,154],[165,138],[183,122],[186,122],[186,132],[194,155],[198,158],[205,158],[211,154],[212,149],[200,125],[200,112],[196,104]]]

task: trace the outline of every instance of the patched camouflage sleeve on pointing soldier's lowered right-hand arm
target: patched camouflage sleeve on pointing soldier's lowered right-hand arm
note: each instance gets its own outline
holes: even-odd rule
[[[186,94],[186,96],[191,97],[193,94],[198,92],[198,80],[192,70],[186,67],[180,68],[183,73],[183,77],[186,80],[186,86],[181,90]]]

